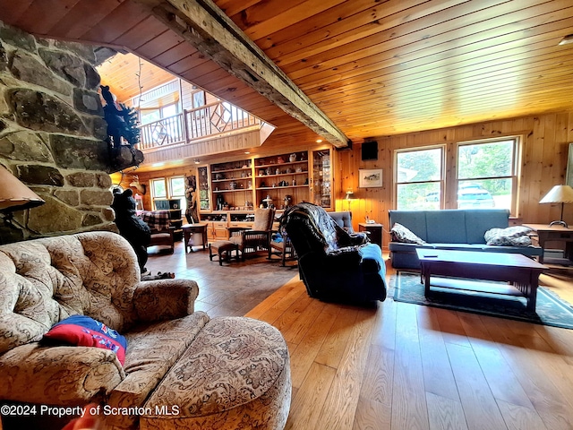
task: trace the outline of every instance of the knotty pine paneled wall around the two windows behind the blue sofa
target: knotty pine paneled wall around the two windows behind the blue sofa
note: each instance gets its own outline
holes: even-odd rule
[[[338,210],[346,210],[341,199],[347,188],[352,188],[357,200],[351,203],[355,228],[366,216],[384,225],[384,244],[389,241],[388,211],[394,208],[394,151],[435,144],[446,146],[446,187],[456,181],[455,159],[457,142],[492,137],[522,137],[518,208],[513,214],[524,223],[549,223],[560,218],[560,205],[539,204],[553,185],[564,184],[567,170],[569,142],[573,142],[573,110],[569,112],[524,116],[501,121],[461,125],[419,133],[373,137],[378,142],[378,159],[362,161],[361,145],[353,150],[338,152],[339,184]],[[382,168],[381,188],[358,188],[359,168]],[[451,188],[451,186],[450,186]],[[453,200],[455,202],[455,199]],[[454,203],[455,204],[455,203]],[[563,218],[573,224],[573,204],[565,205]]]

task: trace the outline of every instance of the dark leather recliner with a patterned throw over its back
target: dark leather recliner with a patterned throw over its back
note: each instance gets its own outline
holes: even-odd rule
[[[280,226],[295,247],[310,297],[353,304],[386,298],[381,248],[367,236],[349,234],[327,211],[308,202],[287,209]]]

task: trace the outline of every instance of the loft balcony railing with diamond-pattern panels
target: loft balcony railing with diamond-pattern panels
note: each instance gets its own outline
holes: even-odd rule
[[[216,102],[183,113],[141,125],[141,150],[164,148],[168,145],[189,143],[194,140],[228,132],[240,132],[252,125],[261,125],[261,119],[227,102]]]

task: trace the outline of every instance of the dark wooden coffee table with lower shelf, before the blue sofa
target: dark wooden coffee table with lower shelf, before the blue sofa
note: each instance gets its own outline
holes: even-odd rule
[[[422,267],[426,297],[430,295],[431,287],[479,291],[505,296],[525,296],[527,311],[535,312],[539,275],[547,267],[525,255],[423,248],[416,249],[416,254]],[[509,284],[471,280],[506,281]]]

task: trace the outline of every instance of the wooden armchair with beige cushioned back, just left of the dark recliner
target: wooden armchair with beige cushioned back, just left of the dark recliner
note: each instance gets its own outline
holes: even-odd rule
[[[274,209],[257,209],[254,212],[252,228],[230,227],[229,240],[234,242],[241,251],[241,257],[260,252],[269,252],[272,223],[275,220]]]

